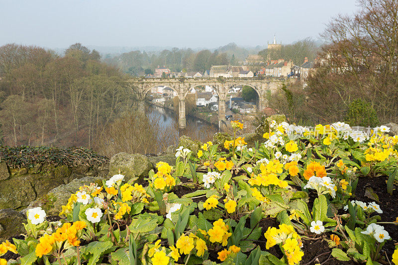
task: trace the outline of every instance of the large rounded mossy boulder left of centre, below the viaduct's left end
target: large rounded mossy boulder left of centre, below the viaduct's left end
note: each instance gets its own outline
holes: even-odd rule
[[[125,181],[131,178],[142,179],[148,176],[151,169],[152,163],[146,156],[140,154],[119,153],[114,155],[109,162],[109,176],[119,174],[120,171]]]

